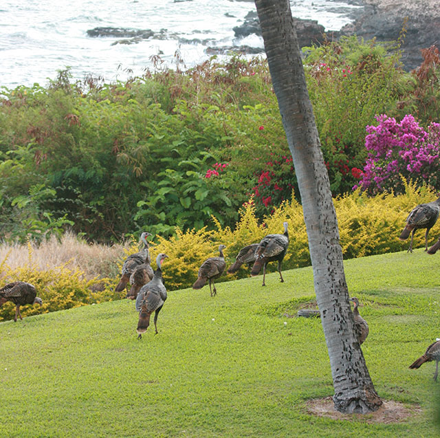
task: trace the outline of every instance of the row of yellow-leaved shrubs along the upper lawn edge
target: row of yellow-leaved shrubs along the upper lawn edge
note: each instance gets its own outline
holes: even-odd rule
[[[344,259],[353,257],[382,254],[406,250],[408,241],[400,241],[399,235],[405,226],[408,212],[417,204],[430,202],[437,194],[429,188],[415,188],[412,184],[406,186],[404,195],[382,194],[367,197],[364,193],[355,191],[333,199],[338,216],[340,244]],[[155,259],[159,252],[168,255],[162,265],[164,281],[167,289],[175,290],[191,287],[197,279],[197,272],[203,261],[211,256],[218,256],[219,245],[226,245],[223,253],[227,268],[235,261],[236,254],[245,245],[258,243],[266,234],[282,233],[283,222],[289,224],[289,248],[283,261],[283,269],[292,269],[310,265],[309,245],[303,218],[303,208],[295,200],[285,201],[276,208],[272,215],[265,217],[259,223],[256,219],[252,199],[240,211],[240,219],[234,230],[222,228],[214,217],[214,230],[188,230],[179,228],[175,236],[169,239],[156,236],[157,243],[151,242],[151,265],[156,268]],[[440,222],[439,222],[440,223]],[[430,244],[439,236],[438,225],[434,226]],[[424,230],[415,233],[414,247],[423,247]],[[139,243],[133,237],[129,248],[124,248],[124,254],[115,260],[118,272],[127,256],[139,251]],[[42,270],[33,261],[32,245],[28,243],[28,262],[19,267],[8,265],[10,252],[0,260],[0,287],[12,281],[27,281],[37,290],[37,295],[43,300],[43,305],[28,305],[22,309],[24,316],[46,313],[61,309],[70,309],[91,303],[117,300],[125,296],[125,291],[115,293],[115,278],[100,278],[96,272],[94,278],[87,278],[83,271],[69,267],[69,262],[58,266],[47,266]],[[108,261],[106,262],[108,263]],[[268,272],[276,270],[276,263],[270,263]],[[243,278],[249,275],[249,269],[242,267],[239,272],[230,276],[223,274],[220,281]],[[0,321],[12,319],[14,304],[5,303],[0,308]]]

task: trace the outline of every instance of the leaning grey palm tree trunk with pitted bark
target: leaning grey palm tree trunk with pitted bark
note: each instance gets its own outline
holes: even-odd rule
[[[382,400],[355,338],[338,220],[289,0],[255,0],[255,4],[303,204],[316,298],[333,377],[333,402],[344,413],[368,413],[377,410]]]

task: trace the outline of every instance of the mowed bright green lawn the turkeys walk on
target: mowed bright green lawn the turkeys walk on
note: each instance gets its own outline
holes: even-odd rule
[[[167,260],[166,264],[173,263]],[[423,250],[345,262],[364,306],[364,356],[383,399],[421,406],[398,424],[309,415],[333,395],[311,267],[168,292],[159,334],[137,340],[120,300],[0,323],[1,437],[436,437],[434,362],[408,366],[440,337],[440,257]]]

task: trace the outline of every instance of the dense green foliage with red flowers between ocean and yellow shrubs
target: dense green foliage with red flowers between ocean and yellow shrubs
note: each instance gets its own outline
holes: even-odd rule
[[[376,114],[408,110],[421,123],[437,114],[432,51],[418,76],[374,41],[306,55],[334,195],[358,181]],[[262,218],[296,188],[267,64],[236,56],[126,83],[72,83],[67,70],[47,87],[3,87],[0,179],[3,237],[21,241],[67,227],[97,241],[140,229],[166,237],[176,226],[212,228],[211,215],[233,226],[250,195]]]

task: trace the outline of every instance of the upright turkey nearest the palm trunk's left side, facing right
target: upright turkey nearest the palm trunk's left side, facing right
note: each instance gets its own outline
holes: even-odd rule
[[[278,261],[278,272],[280,273],[281,283],[284,283],[281,274],[281,262],[289,246],[289,233],[287,232],[287,222],[283,222],[283,234],[267,234],[261,239],[255,252],[255,263],[250,272],[251,276],[257,276],[263,266],[263,286],[265,286],[266,266],[270,261]]]

